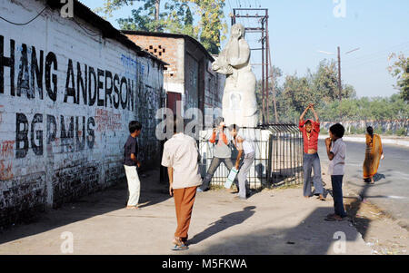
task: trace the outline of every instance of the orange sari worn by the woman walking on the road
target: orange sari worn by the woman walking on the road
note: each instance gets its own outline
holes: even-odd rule
[[[363,166],[364,179],[371,178],[376,174],[382,153],[381,137],[374,134],[374,138],[372,138],[369,134],[366,134],[366,150]]]

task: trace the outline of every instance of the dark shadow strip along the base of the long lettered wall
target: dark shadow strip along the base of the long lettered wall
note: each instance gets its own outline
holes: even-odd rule
[[[166,185],[159,182],[159,171],[149,171],[141,175],[141,208],[153,206],[171,198]],[[30,222],[18,224],[0,233],[0,244],[22,239],[51,229],[103,215],[115,210],[125,210],[128,200],[128,185],[121,180],[104,191],[65,203],[61,208],[38,213]]]

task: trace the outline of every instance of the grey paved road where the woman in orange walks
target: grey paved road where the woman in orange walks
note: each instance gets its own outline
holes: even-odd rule
[[[345,141],[345,179],[348,187],[364,195],[379,208],[389,212],[395,219],[409,223],[409,148],[384,144],[384,161],[381,161],[374,185],[364,183],[362,165],[365,144]],[[328,157],[324,141],[319,141],[318,153],[325,165]],[[323,169],[326,172],[326,168]]]

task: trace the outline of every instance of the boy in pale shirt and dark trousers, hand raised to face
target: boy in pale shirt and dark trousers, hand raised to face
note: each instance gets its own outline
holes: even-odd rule
[[[330,127],[330,137],[325,139],[326,153],[328,155],[329,173],[333,185],[334,214],[328,214],[325,220],[343,220],[346,217],[343,202],[343,177],[345,166],[346,146],[343,141],[344,126],[336,123]]]

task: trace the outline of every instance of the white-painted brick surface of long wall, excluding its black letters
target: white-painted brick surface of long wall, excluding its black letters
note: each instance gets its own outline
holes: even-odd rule
[[[42,1],[6,1],[1,0],[0,14],[13,22],[26,22],[35,17],[45,5]],[[70,18],[63,18],[59,11],[46,9],[42,15],[31,24],[17,26],[0,20],[0,36],[4,40],[4,56],[11,54],[10,41],[15,41],[15,93],[17,93],[19,73],[22,71],[23,44],[27,46],[28,74],[23,69],[23,80],[32,84],[32,46],[35,46],[37,61],[40,62],[40,51],[47,54],[54,53],[57,60],[57,69],[51,65],[51,75],[57,79],[57,96],[54,102],[45,88],[45,71],[43,73],[43,99],[39,97],[38,88],[35,88],[35,98],[27,97],[27,89],[21,88],[21,96],[12,95],[9,67],[4,68],[4,90],[0,85],[0,210],[10,208],[15,210],[30,209],[46,204],[53,206],[65,200],[100,190],[124,176],[122,160],[123,145],[129,134],[128,123],[139,120],[143,123],[143,132],[139,140],[142,160],[154,161],[159,151],[159,142],[155,139],[155,112],[160,107],[160,98],[164,96],[163,71],[151,58],[137,56],[133,50],[112,39],[105,39],[95,27],[87,24],[80,18],[75,20],[88,29],[86,34],[80,26]],[[1,37],[0,37],[1,42]],[[0,46],[0,57],[2,48]],[[5,61],[5,59],[3,59]],[[88,105],[81,100],[74,103],[69,96],[65,101],[65,84],[67,79],[68,63],[72,60],[75,78],[75,93],[77,85],[77,62],[80,63],[84,75],[85,64],[89,67],[115,74],[126,81],[134,81],[134,103],[123,109],[121,105],[115,108],[109,100],[107,105]],[[1,62],[1,60],[0,60]],[[5,63],[5,62],[3,62]],[[1,69],[0,69],[1,72]],[[1,77],[1,75],[0,75]],[[98,78],[98,77],[97,77]],[[89,79],[88,79],[89,80]],[[98,80],[98,79],[97,79]],[[101,97],[105,99],[105,76],[101,77],[103,88]],[[24,82],[21,82],[24,83]],[[107,79],[107,86],[110,86]],[[117,82],[116,82],[117,83]],[[115,84],[118,85],[119,84]],[[35,83],[36,86],[36,83]],[[51,83],[54,88],[54,83]],[[71,82],[69,84],[71,86]],[[119,88],[119,87],[118,87]],[[115,88],[113,88],[115,94]],[[125,85],[123,86],[125,93]],[[3,92],[2,92],[3,91]],[[125,94],[124,100],[125,100]],[[118,95],[115,94],[115,98]],[[114,98],[113,98],[114,100]],[[89,97],[87,98],[89,102]],[[24,124],[18,124],[18,113],[24,115],[28,121],[28,151],[18,155],[17,147],[24,147],[25,141],[17,143],[17,126],[22,131]],[[42,116],[43,121],[33,123],[35,114]],[[51,122],[47,131],[47,116],[55,118],[55,140],[47,143],[54,124]],[[78,117],[78,130],[74,128],[74,141],[63,146],[61,132],[61,116],[65,119],[65,128],[69,126],[69,119]],[[85,132],[83,119],[85,118]],[[88,128],[88,121],[90,125]],[[93,124],[93,122],[95,124]],[[34,134],[32,134],[32,131]],[[85,148],[76,146],[85,133],[86,140],[94,145],[85,143]],[[48,136],[47,136],[48,132]],[[92,134],[95,135],[95,141]],[[41,135],[42,134],[42,135]],[[90,135],[91,134],[91,135]],[[43,141],[42,152],[35,154],[31,136],[34,135],[34,144]],[[70,139],[68,139],[70,140]],[[70,140],[71,141],[71,140]],[[86,142],[86,141],[85,141]],[[74,146],[73,146],[74,145]],[[91,147],[92,146],[92,147]],[[25,151],[22,151],[25,153]],[[1,215],[4,216],[4,215]],[[1,223],[0,223],[1,224]]]

